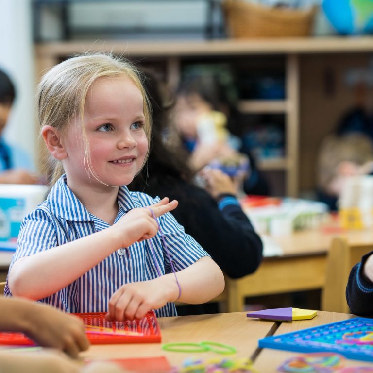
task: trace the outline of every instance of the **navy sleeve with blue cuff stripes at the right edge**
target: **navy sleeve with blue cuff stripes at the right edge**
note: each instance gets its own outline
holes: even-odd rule
[[[363,275],[364,264],[372,254],[364,255],[352,268],[346,288],[347,304],[352,313],[360,316],[373,316],[373,283]]]

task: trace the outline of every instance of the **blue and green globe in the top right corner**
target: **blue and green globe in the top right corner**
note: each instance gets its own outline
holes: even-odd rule
[[[339,34],[373,34],[373,0],[323,0],[322,8]]]

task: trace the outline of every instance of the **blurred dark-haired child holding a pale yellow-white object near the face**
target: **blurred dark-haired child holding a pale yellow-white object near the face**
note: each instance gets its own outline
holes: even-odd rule
[[[246,194],[269,194],[264,176],[257,170],[251,153],[240,153],[240,128],[243,116],[215,74],[190,76],[182,82],[174,108],[175,127],[190,154],[192,170],[201,170],[212,161],[237,168],[246,167],[243,191]],[[214,163],[216,165],[216,162]]]

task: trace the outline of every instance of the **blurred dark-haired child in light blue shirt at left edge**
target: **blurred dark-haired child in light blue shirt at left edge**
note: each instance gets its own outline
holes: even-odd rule
[[[38,179],[33,175],[30,157],[2,137],[15,99],[15,86],[0,70],[0,184],[36,184]],[[34,125],[32,119],[30,125]]]

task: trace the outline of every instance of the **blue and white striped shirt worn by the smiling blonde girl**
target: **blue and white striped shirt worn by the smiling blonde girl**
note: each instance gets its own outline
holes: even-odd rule
[[[117,222],[129,210],[158,202],[145,193],[130,192],[121,186],[118,193]],[[175,271],[180,271],[203,256],[209,256],[184,231],[174,217],[167,213],[158,218]],[[88,236],[109,227],[109,224],[90,214],[66,185],[62,176],[52,187],[47,200],[41,203],[22,222],[9,271],[17,259],[44,250],[58,250],[58,246]],[[171,266],[161,244],[160,233],[152,238],[155,258],[162,274]],[[119,250],[120,251],[120,250]],[[115,251],[76,281],[41,302],[67,312],[106,312],[114,292],[125,283],[156,278],[157,268],[148,240],[136,242],[126,250]],[[46,279],[48,281],[48,279]],[[11,295],[8,283],[5,295]],[[157,316],[175,316],[176,308],[168,303],[156,310]]]

